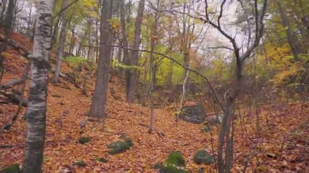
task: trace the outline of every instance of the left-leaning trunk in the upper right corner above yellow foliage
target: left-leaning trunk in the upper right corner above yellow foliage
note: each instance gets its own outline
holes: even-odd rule
[[[285,9],[282,7],[280,0],[276,0],[280,17],[282,19],[282,24],[286,28],[286,33],[287,33],[287,39],[288,39],[288,44],[290,46],[291,52],[293,54],[294,60],[298,61],[298,54],[301,54],[301,46],[297,40],[297,37],[295,36],[295,33],[292,30],[291,23],[289,21],[289,18],[286,15]]]

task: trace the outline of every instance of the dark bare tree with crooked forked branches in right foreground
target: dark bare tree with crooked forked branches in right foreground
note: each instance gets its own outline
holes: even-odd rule
[[[219,134],[219,144],[218,144],[218,168],[219,172],[230,172],[233,163],[233,133],[231,133],[232,119],[234,114],[234,104],[235,100],[241,90],[242,86],[242,69],[246,59],[248,59],[252,52],[259,46],[259,42],[264,33],[264,16],[267,8],[267,0],[262,2],[261,8],[258,6],[258,0],[254,0],[254,23],[255,23],[255,36],[251,41],[252,44],[248,46],[246,51],[243,54],[240,54],[240,48],[237,45],[235,37],[231,36],[226,32],[221,26],[221,19],[223,17],[224,6],[226,5],[226,0],[220,4],[220,13],[217,18],[217,21],[212,21],[210,19],[210,13],[208,12],[208,2],[205,0],[205,15],[203,17],[198,17],[203,20],[204,23],[210,24],[212,27],[217,29],[223,36],[225,36],[232,44],[233,54],[236,60],[235,71],[234,71],[234,82],[231,88],[230,93],[225,94],[225,102],[222,102],[222,109],[224,111],[224,117],[222,120],[222,126]],[[244,3],[241,0],[238,0],[241,4]],[[249,35],[251,37],[251,35]],[[225,146],[225,159],[223,159],[223,146],[224,139],[226,138]]]

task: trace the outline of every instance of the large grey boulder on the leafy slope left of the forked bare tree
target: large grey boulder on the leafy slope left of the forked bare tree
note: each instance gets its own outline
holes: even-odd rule
[[[206,114],[201,105],[183,106],[179,117],[184,121],[200,124],[205,121]]]

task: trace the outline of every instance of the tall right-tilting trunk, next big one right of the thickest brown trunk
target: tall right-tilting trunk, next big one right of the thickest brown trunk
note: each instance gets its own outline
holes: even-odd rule
[[[141,24],[143,21],[143,14],[144,14],[144,6],[145,0],[140,0],[137,16],[135,21],[135,31],[134,31],[134,42],[133,42],[133,49],[138,50],[139,45],[141,42],[140,35],[141,35]],[[129,60],[130,65],[138,66],[138,51],[131,52],[131,59]],[[135,100],[135,93],[136,93],[136,83],[137,83],[137,71],[130,70],[128,71],[127,75],[127,102],[133,103]]]

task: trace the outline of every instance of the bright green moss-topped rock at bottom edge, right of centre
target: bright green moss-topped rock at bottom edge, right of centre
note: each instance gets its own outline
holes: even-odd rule
[[[187,172],[186,163],[184,158],[179,152],[171,152],[164,165],[160,168],[160,173],[178,173],[178,172]]]

